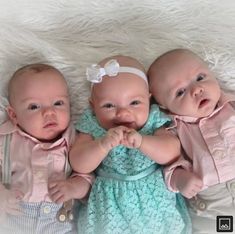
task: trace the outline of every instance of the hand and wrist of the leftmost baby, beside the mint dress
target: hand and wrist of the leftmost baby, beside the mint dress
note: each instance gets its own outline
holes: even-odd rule
[[[51,181],[48,186],[50,198],[56,203],[83,199],[90,190],[92,180],[92,175],[74,174],[67,180]]]

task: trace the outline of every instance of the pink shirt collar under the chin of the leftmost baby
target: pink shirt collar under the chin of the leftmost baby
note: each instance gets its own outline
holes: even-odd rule
[[[28,139],[35,142],[36,144],[42,144],[43,148],[47,148],[47,149],[54,148],[54,147],[61,145],[63,143],[65,143],[67,145],[67,147],[69,147],[71,144],[71,140],[72,140],[71,138],[75,134],[75,131],[74,131],[72,125],[70,125],[65,130],[65,132],[62,134],[62,137],[59,138],[57,141],[52,142],[52,143],[50,143],[50,142],[45,143],[45,142],[39,141],[35,137],[32,137],[29,134],[27,134],[26,132],[22,131],[18,126],[14,125],[10,120],[7,120],[6,122],[4,122],[3,124],[0,125],[0,135],[12,134],[14,132],[18,132],[21,136],[27,137]]]

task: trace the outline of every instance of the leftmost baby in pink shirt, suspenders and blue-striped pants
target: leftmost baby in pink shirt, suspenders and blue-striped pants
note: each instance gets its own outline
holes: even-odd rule
[[[66,180],[75,138],[66,81],[52,66],[31,64],[14,73],[8,94],[10,120],[0,126],[0,232],[76,233],[66,212],[71,199],[86,196],[91,180]]]

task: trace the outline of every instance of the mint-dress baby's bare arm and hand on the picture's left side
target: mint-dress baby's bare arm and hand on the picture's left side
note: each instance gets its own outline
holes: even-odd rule
[[[79,133],[69,154],[73,170],[78,173],[94,171],[108,152],[121,143],[124,129],[126,128],[122,126],[109,129],[107,134],[99,139],[93,139],[89,134]]]

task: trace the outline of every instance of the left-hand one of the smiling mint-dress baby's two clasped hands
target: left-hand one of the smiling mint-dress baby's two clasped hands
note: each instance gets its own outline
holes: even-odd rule
[[[115,146],[120,145],[126,130],[127,128],[124,126],[109,129],[107,134],[100,139],[101,147],[108,152]]]

